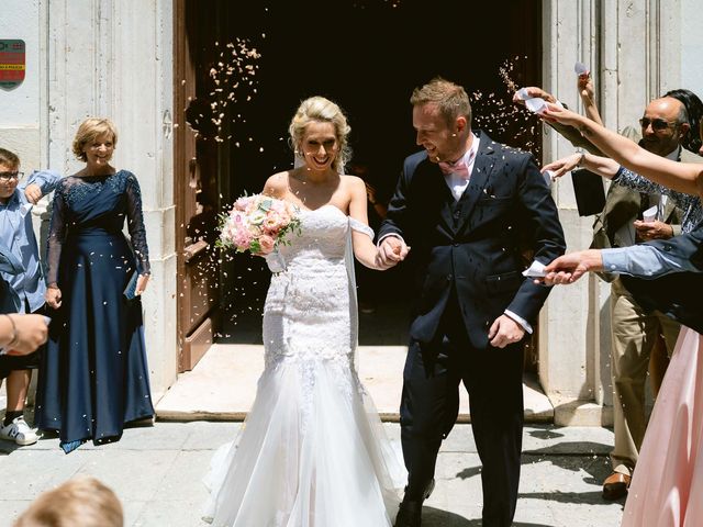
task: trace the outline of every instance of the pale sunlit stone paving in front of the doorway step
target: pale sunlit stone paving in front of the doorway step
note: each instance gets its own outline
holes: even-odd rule
[[[3,492],[0,527],[42,491],[75,474],[92,474],[120,496],[126,526],[198,527],[207,496],[201,478],[210,458],[232,440],[241,423],[157,423],[125,430],[102,447],[83,446],[65,456],[56,438],[13,448],[0,441]],[[393,441],[399,426],[384,425]],[[613,435],[605,428],[532,425],[525,428],[523,474],[516,527],[602,527],[620,525],[622,503],[603,502],[600,482],[609,473]],[[480,526],[479,460],[470,425],[458,425],[445,441],[437,487],[426,502],[424,527]],[[366,526],[365,526],[366,527]]]

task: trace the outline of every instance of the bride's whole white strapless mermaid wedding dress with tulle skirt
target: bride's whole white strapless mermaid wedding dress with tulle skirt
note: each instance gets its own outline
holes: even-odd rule
[[[391,526],[406,474],[355,369],[350,228],[334,205],[301,213],[264,307],[265,370],[238,444],[213,458],[215,526]],[[269,264],[270,265],[270,264]]]

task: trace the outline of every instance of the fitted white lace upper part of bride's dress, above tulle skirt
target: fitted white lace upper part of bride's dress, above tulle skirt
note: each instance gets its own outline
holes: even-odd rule
[[[312,383],[312,372],[324,361],[338,368],[352,390],[358,317],[348,265],[350,228],[373,236],[336,206],[301,212],[301,235],[280,247],[286,270],[271,277],[264,306],[266,368],[293,362]]]

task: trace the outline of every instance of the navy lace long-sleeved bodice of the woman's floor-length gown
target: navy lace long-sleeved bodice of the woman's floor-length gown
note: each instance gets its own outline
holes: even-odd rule
[[[108,176],[67,177],[54,193],[48,236],[48,283],[56,283],[62,248],[68,236],[103,232],[120,234],[127,220],[131,245],[140,273],[149,272],[149,254],[136,177],[120,170]]]

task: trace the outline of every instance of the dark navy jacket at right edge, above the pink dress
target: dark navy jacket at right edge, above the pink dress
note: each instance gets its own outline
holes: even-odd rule
[[[668,253],[674,259],[689,260],[699,272],[676,272],[655,280],[622,277],[627,291],[646,310],[659,310],[703,333],[703,223],[688,234],[645,245]]]

